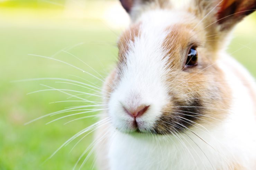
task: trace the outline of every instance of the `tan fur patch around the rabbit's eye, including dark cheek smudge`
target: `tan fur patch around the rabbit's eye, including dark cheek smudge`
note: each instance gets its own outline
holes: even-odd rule
[[[175,24],[169,31],[163,47],[170,58],[171,72],[166,84],[170,87],[170,103],[162,110],[162,117],[154,130],[159,134],[187,130],[198,123],[213,125],[227,116],[230,106],[230,88],[214,57],[216,51],[201,43],[198,47],[199,64],[183,69],[187,49],[204,42],[191,31],[193,25]],[[204,34],[202,31],[201,35]]]

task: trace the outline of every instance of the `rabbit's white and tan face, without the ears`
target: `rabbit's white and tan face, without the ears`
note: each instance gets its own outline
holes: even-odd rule
[[[169,134],[225,117],[229,87],[199,22],[188,12],[154,10],[122,34],[109,100],[115,127]]]

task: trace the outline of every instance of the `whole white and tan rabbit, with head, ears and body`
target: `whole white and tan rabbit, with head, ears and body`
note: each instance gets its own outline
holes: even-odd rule
[[[256,0],[120,0],[99,170],[255,170],[256,84],[225,49]],[[243,57],[243,56],[241,56]]]

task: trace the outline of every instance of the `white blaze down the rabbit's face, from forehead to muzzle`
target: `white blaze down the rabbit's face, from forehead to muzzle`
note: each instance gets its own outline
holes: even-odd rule
[[[150,130],[162,108],[168,103],[166,75],[170,58],[165,57],[163,42],[168,26],[182,22],[182,15],[170,11],[150,11],[137,21],[139,34],[130,41],[126,52],[126,65],[122,66],[122,76],[116,90],[111,94],[109,111],[114,126],[120,130],[131,130],[134,118],[125,108],[149,106],[145,114],[137,117],[141,131]]]

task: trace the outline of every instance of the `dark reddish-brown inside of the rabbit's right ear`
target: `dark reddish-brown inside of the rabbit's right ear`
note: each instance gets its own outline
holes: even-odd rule
[[[232,28],[245,16],[256,10],[256,0],[222,0],[218,11],[218,23],[222,30]]]

